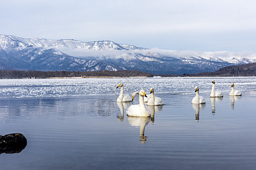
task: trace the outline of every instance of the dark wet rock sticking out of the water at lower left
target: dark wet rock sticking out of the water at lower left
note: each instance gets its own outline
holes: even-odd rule
[[[14,154],[21,152],[27,146],[27,139],[23,134],[13,133],[0,135],[0,154]]]

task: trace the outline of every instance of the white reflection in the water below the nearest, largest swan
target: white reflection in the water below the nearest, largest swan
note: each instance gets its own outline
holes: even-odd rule
[[[131,126],[139,126],[139,141],[146,143],[147,137],[144,135],[145,126],[150,122],[150,117],[127,116],[127,121]]]

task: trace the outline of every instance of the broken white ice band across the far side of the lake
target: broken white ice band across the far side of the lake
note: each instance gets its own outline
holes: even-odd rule
[[[0,98],[22,97],[66,97],[88,95],[119,95],[119,82],[124,84],[125,94],[133,94],[144,89],[155,94],[192,94],[195,86],[200,87],[200,94],[208,96],[216,82],[216,90],[229,92],[234,82],[235,90],[256,90],[255,77],[220,77],[220,78],[73,78],[73,79],[2,79]]]

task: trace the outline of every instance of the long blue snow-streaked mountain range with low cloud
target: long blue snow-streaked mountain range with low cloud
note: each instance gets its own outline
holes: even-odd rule
[[[113,41],[24,39],[0,35],[2,70],[139,70],[153,74],[183,74],[216,71],[229,65],[256,62],[255,56],[221,55],[195,53],[177,56],[174,50],[139,48]]]

